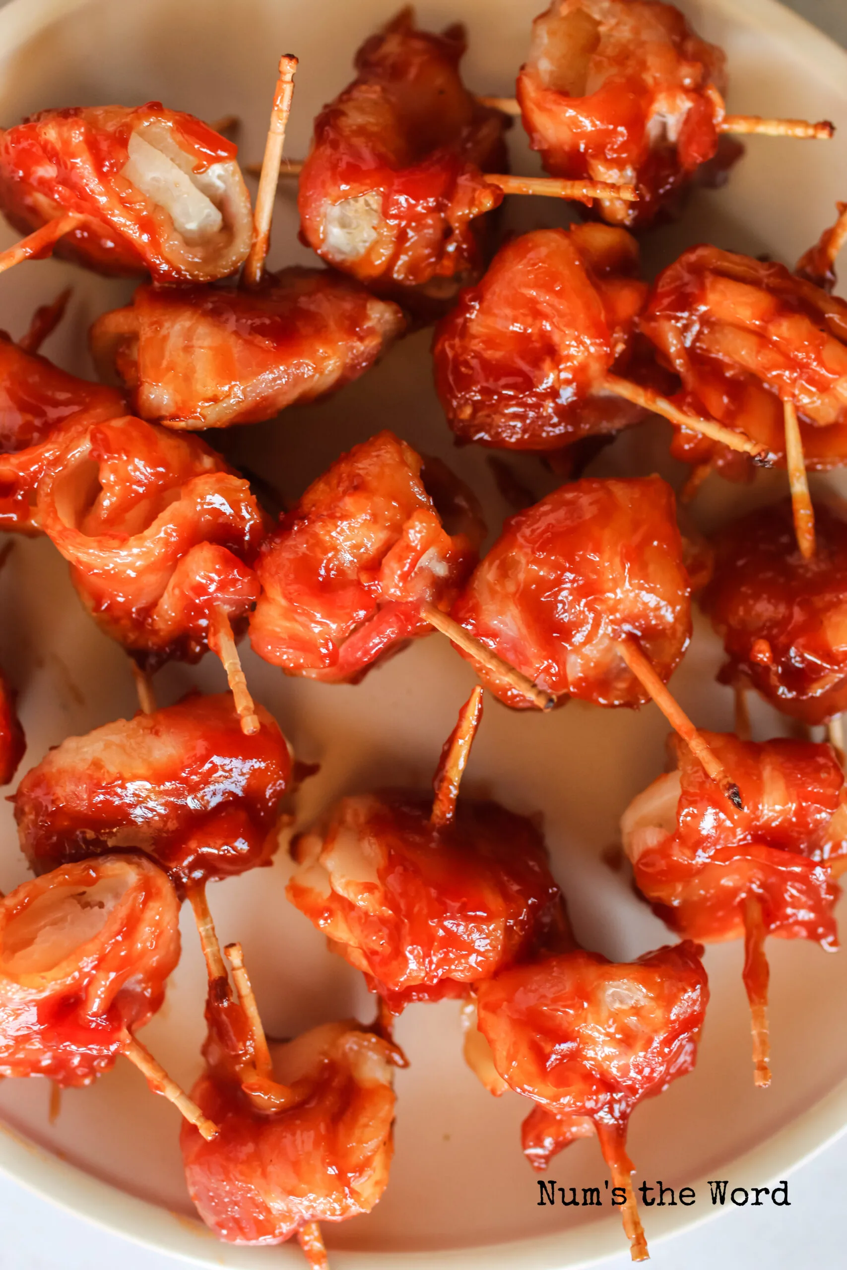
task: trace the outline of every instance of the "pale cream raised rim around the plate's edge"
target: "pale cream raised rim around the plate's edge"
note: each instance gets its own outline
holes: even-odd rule
[[[91,3],[94,0],[9,0],[0,10],[0,75],[6,61],[28,39]],[[818,80],[844,94],[847,50],[780,0],[744,0],[742,14],[738,13],[737,0],[693,0],[693,4],[734,22],[740,19],[752,32],[766,29],[780,41],[790,42],[794,55],[814,69]],[[742,1176],[757,1176],[763,1182],[781,1180],[846,1132],[847,1078],[750,1151],[719,1167]],[[286,1259],[292,1266],[303,1264],[300,1250],[291,1242],[269,1247],[223,1243],[199,1218],[174,1213],[102,1180],[33,1142],[3,1118],[0,1173],[102,1231],[196,1265],[260,1270],[272,1262],[279,1267]],[[705,1173],[690,1182],[698,1194],[705,1194],[707,1184]],[[716,1206],[700,1213],[683,1209],[650,1214],[650,1245],[711,1222],[723,1212]],[[434,1257],[443,1270],[483,1266],[485,1270],[513,1270],[516,1264],[527,1270],[580,1270],[625,1252],[626,1242],[620,1220],[612,1214],[570,1231],[499,1243],[385,1252],[335,1250],[330,1245],[329,1251],[334,1270],[367,1270],[375,1260],[378,1260],[380,1270],[418,1270],[429,1266]]]

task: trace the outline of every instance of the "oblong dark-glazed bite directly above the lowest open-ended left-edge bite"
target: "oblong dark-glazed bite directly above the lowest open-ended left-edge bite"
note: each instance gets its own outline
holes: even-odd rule
[[[230,693],[185,697],[69,737],[15,794],[20,848],[42,872],[110,848],[145,851],[180,884],[269,864],[291,754],[257,705],[241,732]]]

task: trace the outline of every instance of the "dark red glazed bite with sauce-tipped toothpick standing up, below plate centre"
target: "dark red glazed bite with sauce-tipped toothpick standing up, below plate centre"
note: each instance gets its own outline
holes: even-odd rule
[[[292,843],[288,898],[395,1013],[461,997],[566,933],[532,822],[457,796],[481,709],[477,687],[444,745],[434,804],[396,789],[344,798]]]

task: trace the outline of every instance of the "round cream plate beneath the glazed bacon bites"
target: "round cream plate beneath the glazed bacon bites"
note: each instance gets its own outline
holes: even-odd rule
[[[688,0],[697,29],[729,53],[734,110],[833,118],[834,142],[753,138],[745,160],[720,192],[697,196],[684,220],[648,240],[653,271],[683,246],[707,239],[724,248],[770,251],[792,263],[847,197],[847,56],[771,0]],[[467,81],[508,93],[541,0],[423,0],[419,17],[439,28],[457,17],[470,29]],[[743,13],[739,11],[743,9]],[[391,15],[391,0],[357,4],[312,0],[15,0],[0,13],[0,123],[43,107],[161,98],[211,119],[235,112],[245,121],[241,154],[260,157],[278,55],[301,58],[287,152],[302,154],[319,107],[350,79],[354,48]],[[535,171],[519,127],[512,133],[517,171]],[[839,170],[844,175],[839,184]],[[512,226],[556,224],[551,199],[512,199]],[[0,230],[0,245],[14,235]],[[272,263],[309,259],[296,244],[291,194],[278,201]],[[847,264],[844,265],[847,268]],[[0,324],[18,335],[36,304],[74,284],[70,318],[48,356],[91,373],[86,328],[130,288],[57,262],[25,264],[0,279]],[[486,453],[453,450],[430,384],[428,333],[396,347],[385,362],[330,401],[290,410],[281,420],[244,429],[237,453],[272,474],[287,497],[349,444],[390,427],[411,444],[441,453],[483,497],[495,532],[509,508],[497,493]],[[649,472],[679,484],[682,469],[663,457],[667,433],[624,434],[598,474]],[[530,458],[514,460],[538,497],[551,481]],[[714,479],[695,504],[709,528],[730,512],[784,490],[785,478],[762,474],[756,489]],[[47,541],[17,541],[0,577],[0,663],[22,690],[29,739],[24,766],[48,745],[135,710],[123,654],[84,616],[66,566]],[[704,725],[731,728],[731,700],[714,682],[715,638],[700,624],[673,690]],[[321,763],[307,782],[300,814],[307,822],[330,800],[375,784],[427,786],[441,744],[472,683],[467,664],[438,636],[419,641],[359,687],[286,679],[249,653],[254,695],[279,719],[297,753]],[[157,679],[163,704],[189,685],[220,690],[220,667],[207,659],[170,667]],[[767,707],[757,734],[781,728]],[[512,714],[488,701],[467,787],[489,789],[519,812],[544,809],[554,871],[578,936],[613,959],[630,959],[669,940],[665,928],[601,860],[630,798],[660,770],[667,728],[654,707],[641,714],[571,704],[552,718]],[[11,814],[3,810],[0,885],[27,876]],[[273,870],[211,888],[225,940],[240,939],[268,1030],[290,1035],[350,1012],[372,1010],[359,977],[330,956],[323,939],[284,899],[287,860]],[[843,909],[842,909],[843,912]],[[190,919],[165,1007],[146,1029],[146,1044],[189,1086],[199,1069],[203,968]],[[847,960],[815,946],[772,941],[771,1031],[773,1086],[753,1088],[749,1020],[740,979],[742,949],[706,954],[712,1001],[697,1069],[640,1106],[630,1149],[639,1175],[705,1191],[707,1177],[767,1185],[847,1123]],[[625,1248],[610,1209],[538,1208],[536,1177],[518,1143],[527,1106],[517,1096],[490,1099],[460,1054],[457,1005],[414,1006],[397,1038],[411,1059],[397,1076],[399,1115],[391,1182],[375,1213],[328,1227],[337,1270],[378,1264],[383,1270],[438,1264],[535,1270],[575,1266]],[[48,1124],[48,1086],[0,1085],[0,1166],[60,1204],[169,1252],[210,1265],[298,1265],[296,1247],[253,1250],[218,1245],[194,1219],[177,1144],[177,1113],[152,1097],[128,1063],[90,1090],[67,1092]],[[589,1186],[604,1176],[594,1140],[578,1142],[550,1171],[560,1185]],[[707,1213],[644,1213],[655,1241]],[[288,1259],[288,1260],[286,1260]]]

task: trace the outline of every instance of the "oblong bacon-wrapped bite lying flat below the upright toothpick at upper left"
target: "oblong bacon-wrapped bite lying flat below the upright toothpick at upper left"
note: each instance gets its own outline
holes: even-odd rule
[[[349,278],[292,267],[257,291],[140,287],[90,340],[99,375],[126,386],[142,419],[225,428],[358,378],[404,325],[396,305]]]

